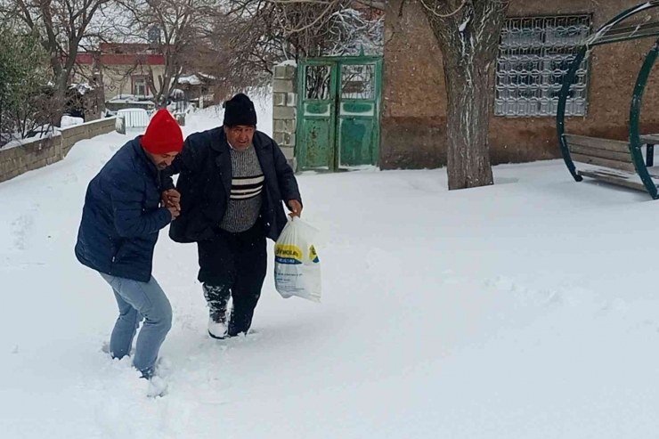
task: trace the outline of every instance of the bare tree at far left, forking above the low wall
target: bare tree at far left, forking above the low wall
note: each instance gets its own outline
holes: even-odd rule
[[[58,111],[53,124],[60,125],[71,73],[81,42],[90,37],[94,16],[111,0],[4,0],[0,13],[37,32],[53,69]]]

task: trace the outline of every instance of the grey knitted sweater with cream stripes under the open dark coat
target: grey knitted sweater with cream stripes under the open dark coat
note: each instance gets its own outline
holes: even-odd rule
[[[261,214],[264,175],[254,146],[247,150],[231,149],[232,191],[220,227],[227,232],[249,230]]]

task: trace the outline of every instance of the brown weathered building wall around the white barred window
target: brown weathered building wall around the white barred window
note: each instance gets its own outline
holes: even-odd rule
[[[598,28],[639,0],[513,0],[510,17],[592,13]],[[657,20],[659,10],[651,12]],[[380,167],[439,167],[446,163],[446,90],[442,53],[418,0],[390,0],[385,29],[384,91]],[[628,137],[631,94],[653,38],[596,48],[590,58],[589,110],[567,118],[574,134],[624,140]],[[493,78],[492,71],[492,78]],[[492,98],[493,98],[492,89]],[[659,132],[659,76],[644,96],[641,129]],[[492,163],[560,157],[556,118],[490,119]]]

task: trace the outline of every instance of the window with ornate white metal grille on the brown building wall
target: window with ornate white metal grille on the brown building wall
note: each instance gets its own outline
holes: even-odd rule
[[[501,30],[494,114],[511,118],[556,116],[563,78],[589,37],[590,15],[510,18]],[[588,109],[588,60],[570,88],[565,114]]]

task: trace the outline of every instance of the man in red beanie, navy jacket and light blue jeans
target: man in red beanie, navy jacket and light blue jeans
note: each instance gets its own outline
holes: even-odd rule
[[[110,354],[120,359],[130,353],[144,319],[133,364],[149,379],[172,324],[169,300],[151,276],[153,249],[160,229],[180,213],[176,203],[160,205],[159,170],[182,149],[181,128],[159,110],[146,134],[127,142],[89,183],[77,235],[78,261],[99,272],[117,299]]]

